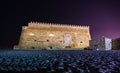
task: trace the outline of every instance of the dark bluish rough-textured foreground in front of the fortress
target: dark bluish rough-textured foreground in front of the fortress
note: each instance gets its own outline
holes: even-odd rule
[[[120,51],[0,50],[0,71],[120,73]]]

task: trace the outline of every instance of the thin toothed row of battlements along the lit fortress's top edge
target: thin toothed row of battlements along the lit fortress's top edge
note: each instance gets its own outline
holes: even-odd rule
[[[89,26],[81,26],[81,25],[71,25],[71,24],[57,24],[57,23],[44,23],[44,22],[30,22],[28,23],[28,27],[68,27],[68,28],[82,28],[89,29]]]

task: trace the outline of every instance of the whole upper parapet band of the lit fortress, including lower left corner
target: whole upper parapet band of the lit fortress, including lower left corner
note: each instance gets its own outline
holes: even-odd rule
[[[61,32],[84,32],[90,33],[89,26],[71,25],[71,24],[57,24],[57,23],[42,23],[42,22],[29,22],[28,26],[23,26],[23,30],[39,29],[46,31],[61,31]]]

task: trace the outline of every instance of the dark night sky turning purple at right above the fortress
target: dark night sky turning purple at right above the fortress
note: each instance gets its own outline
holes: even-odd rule
[[[0,47],[17,44],[30,21],[89,25],[92,39],[120,37],[119,0],[15,0],[0,4]]]

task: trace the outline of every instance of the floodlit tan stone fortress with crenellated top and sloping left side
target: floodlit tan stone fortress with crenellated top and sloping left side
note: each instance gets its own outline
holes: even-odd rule
[[[89,47],[89,26],[30,22],[22,27],[14,49],[67,49]]]

